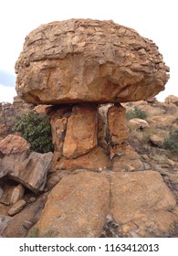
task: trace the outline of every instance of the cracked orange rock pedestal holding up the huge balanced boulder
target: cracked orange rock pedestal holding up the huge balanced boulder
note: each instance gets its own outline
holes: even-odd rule
[[[103,114],[103,107],[79,103],[60,106],[52,114],[53,168],[101,170],[112,166],[115,155],[124,155],[129,145],[125,109],[117,103]]]

